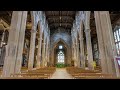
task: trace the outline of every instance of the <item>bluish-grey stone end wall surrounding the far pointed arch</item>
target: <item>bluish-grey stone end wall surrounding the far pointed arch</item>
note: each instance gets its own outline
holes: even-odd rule
[[[54,64],[54,46],[61,40],[67,48],[67,64],[71,62],[71,35],[65,30],[58,30],[50,36],[50,60]]]

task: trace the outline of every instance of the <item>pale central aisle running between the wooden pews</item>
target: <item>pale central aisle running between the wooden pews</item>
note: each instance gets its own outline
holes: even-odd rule
[[[50,79],[72,79],[65,68],[56,68],[55,73],[52,75]]]

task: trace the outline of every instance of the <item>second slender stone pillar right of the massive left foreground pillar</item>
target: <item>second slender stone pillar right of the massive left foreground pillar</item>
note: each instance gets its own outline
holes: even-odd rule
[[[40,32],[40,38],[38,39],[38,52],[37,52],[37,65],[36,68],[40,68],[41,61],[41,43],[42,43],[42,32]]]

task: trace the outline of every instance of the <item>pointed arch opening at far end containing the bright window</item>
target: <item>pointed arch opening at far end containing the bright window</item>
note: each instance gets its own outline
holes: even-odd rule
[[[63,67],[69,65],[69,47],[64,40],[59,39],[53,46],[53,66],[62,64]]]

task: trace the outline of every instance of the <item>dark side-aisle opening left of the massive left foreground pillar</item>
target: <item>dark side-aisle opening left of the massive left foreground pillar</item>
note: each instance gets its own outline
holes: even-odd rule
[[[9,37],[9,27],[11,24],[12,12],[9,11],[9,15],[7,16],[7,11],[1,11],[0,15],[0,68],[3,69],[5,55],[6,55],[6,46],[8,43]]]

